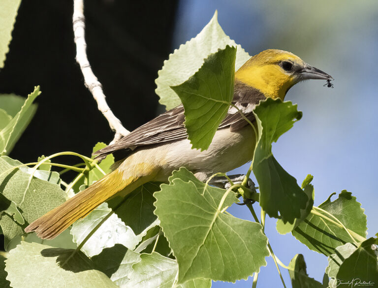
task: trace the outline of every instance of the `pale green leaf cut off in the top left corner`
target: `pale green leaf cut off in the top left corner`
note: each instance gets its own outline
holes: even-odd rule
[[[0,9],[0,68],[4,67],[5,55],[12,40],[13,24],[21,0],[2,0]]]

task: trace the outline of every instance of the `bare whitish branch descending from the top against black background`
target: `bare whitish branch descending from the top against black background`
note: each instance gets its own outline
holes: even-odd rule
[[[117,142],[122,136],[130,133],[122,126],[121,121],[113,114],[105,100],[102,85],[92,71],[91,64],[87,58],[87,43],[85,42],[85,18],[83,0],[73,0],[73,33],[76,44],[76,62],[80,65],[84,76],[84,84],[92,93],[98,106],[98,110],[109,122],[110,128],[116,133],[110,144]]]

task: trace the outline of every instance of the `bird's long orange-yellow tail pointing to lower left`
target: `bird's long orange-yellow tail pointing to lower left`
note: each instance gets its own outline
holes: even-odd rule
[[[25,232],[35,231],[37,236],[42,239],[55,238],[76,220],[87,216],[98,205],[113,197],[126,186],[127,189],[125,190],[127,191],[123,191],[123,194],[133,191],[143,184],[139,183],[141,182],[140,180],[140,177],[124,179],[123,173],[116,169],[84,191],[77,193],[62,205],[32,222],[26,227]]]

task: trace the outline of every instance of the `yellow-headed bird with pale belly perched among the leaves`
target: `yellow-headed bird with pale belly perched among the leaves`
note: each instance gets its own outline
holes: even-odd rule
[[[234,106],[228,108],[207,150],[191,149],[184,107],[179,105],[95,152],[96,158],[122,151],[127,155],[116,162],[112,172],[29,224],[25,232],[35,231],[42,239],[55,238],[106,200],[126,196],[150,181],[167,182],[180,167],[206,181],[216,172],[227,172],[251,161],[256,139],[245,118],[257,128],[253,109],[260,100],[284,100],[292,86],[309,79],[333,80],[290,52],[268,49],[258,53],[235,72]]]

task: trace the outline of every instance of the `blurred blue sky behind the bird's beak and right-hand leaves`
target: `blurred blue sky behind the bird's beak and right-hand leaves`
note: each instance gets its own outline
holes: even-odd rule
[[[180,2],[172,51],[194,37],[218,9],[223,30],[250,55],[269,49],[290,51],[331,74],[324,81],[294,86],[286,100],[298,103],[303,118],[273,145],[273,153],[298,183],[314,175],[315,205],[346,189],[362,203],[368,235],[378,232],[376,209],[378,162],[378,5],[374,1],[185,0]],[[233,172],[245,173],[249,165]],[[256,205],[256,204],[255,204]],[[252,219],[245,207],[231,207],[236,217]],[[275,254],[288,264],[305,256],[307,272],[321,281],[327,258],[310,251],[291,234],[279,235],[267,219],[266,234]],[[272,258],[261,268],[257,287],[282,287]],[[284,280],[291,286],[287,271]],[[252,279],[213,283],[214,288],[252,287]]]

